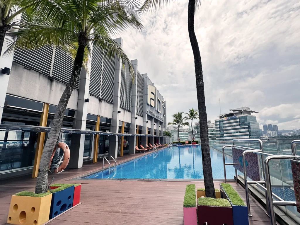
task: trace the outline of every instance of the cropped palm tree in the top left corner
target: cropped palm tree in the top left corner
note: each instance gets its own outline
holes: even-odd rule
[[[16,18],[29,9],[35,11],[37,0],[1,0],[0,1],[0,55],[2,52],[6,32],[13,26],[18,26]]]

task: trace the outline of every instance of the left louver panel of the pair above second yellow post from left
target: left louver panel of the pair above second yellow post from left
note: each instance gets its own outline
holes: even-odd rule
[[[100,98],[103,54],[99,48],[94,47],[91,60],[91,77],[89,94]]]

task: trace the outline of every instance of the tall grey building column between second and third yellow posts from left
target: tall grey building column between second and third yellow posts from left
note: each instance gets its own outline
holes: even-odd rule
[[[123,39],[117,38],[115,41],[121,46],[123,46]],[[119,133],[119,107],[120,107],[120,92],[121,92],[121,70],[122,70],[122,60],[117,58],[115,63],[115,80],[114,80],[114,90],[113,90],[113,119],[110,127],[110,132]],[[109,143],[109,155],[113,158],[118,158],[118,136],[110,135]]]

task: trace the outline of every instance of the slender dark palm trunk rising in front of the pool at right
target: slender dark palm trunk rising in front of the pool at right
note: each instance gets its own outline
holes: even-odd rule
[[[209,150],[202,63],[201,63],[199,46],[198,46],[198,42],[194,30],[194,17],[195,17],[195,0],[189,0],[188,14],[187,14],[187,27],[188,27],[189,37],[190,37],[190,44],[193,49],[195,72],[196,72],[196,89],[197,89],[197,100],[198,100],[198,109],[199,109],[199,126],[201,131],[200,140],[201,140],[205,195],[206,197],[215,198],[214,180],[212,178],[212,171],[211,171],[211,159],[210,159],[210,150]]]

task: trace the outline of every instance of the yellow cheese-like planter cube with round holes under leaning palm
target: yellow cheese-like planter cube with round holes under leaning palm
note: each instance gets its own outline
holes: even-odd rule
[[[41,225],[49,220],[52,193],[22,191],[11,196],[7,223]]]

